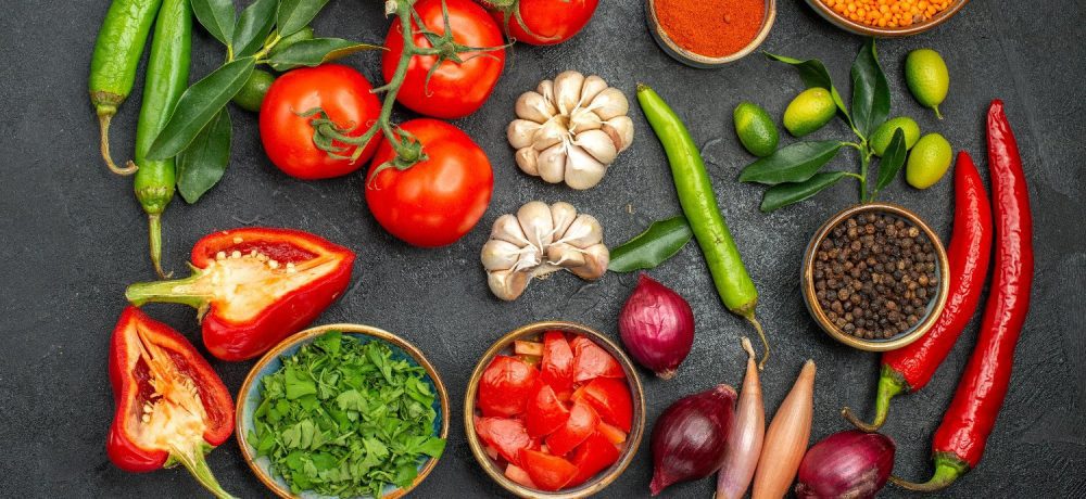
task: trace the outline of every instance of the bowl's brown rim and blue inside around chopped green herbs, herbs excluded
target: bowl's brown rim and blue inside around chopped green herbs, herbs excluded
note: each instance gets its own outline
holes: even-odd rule
[[[235,435],[238,439],[238,446],[241,447],[241,455],[245,458],[245,463],[249,464],[249,468],[256,477],[280,498],[317,499],[325,496],[307,491],[303,491],[301,495],[292,494],[290,486],[282,477],[273,476],[268,458],[257,458],[256,449],[247,442],[249,431],[253,427],[253,413],[261,404],[260,380],[267,374],[278,371],[282,367],[282,358],[296,354],[302,345],[308,344],[316,337],[330,331],[339,331],[343,334],[358,336],[368,341],[382,342],[392,349],[393,358],[405,358],[408,362],[425,369],[426,376],[424,381],[429,383],[430,388],[437,394],[433,401],[433,409],[438,412],[438,418],[433,421],[433,434],[442,438],[449,437],[449,393],[445,391],[445,385],[441,382],[438,371],[433,369],[430,361],[427,360],[426,356],[415,345],[395,334],[371,325],[327,324],[310,328],[283,340],[268,350],[267,354],[264,354],[264,357],[261,357],[252,370],[249,371],[245,382],[241,384],[241,392],[238,393],[238,406],[235,413]],[[381,497],[383,499],[403,497],[417,487],[418,484],[422,483],[437,465],[438,459],[426,459],[419,464],[418,476],[415,477],[409,487],[400,488],[388,484]]]

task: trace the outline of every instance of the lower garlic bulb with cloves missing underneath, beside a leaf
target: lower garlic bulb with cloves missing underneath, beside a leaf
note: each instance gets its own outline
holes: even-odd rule
[[[490,291],[512,302],[532,278],[556,270],[566,269],[590,281],[599,279],[607,271],[610,253],[595,217],[578,215],[569,203],[547,206],[532,201],[516,215],[502,215],[494,221],[481,259]]]

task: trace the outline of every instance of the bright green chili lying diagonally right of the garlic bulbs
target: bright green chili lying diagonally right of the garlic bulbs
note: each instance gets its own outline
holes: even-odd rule
[[[637,102],[641,103],[645,118],[648,119],[648,124],[664,144],[664,151],[668,154],[675,191],[679,193],[679,204],[682,205],[686,220],[694,230],[697,244],[702,246],[705,261],[709,266],[709,272],[712,273],[712,282],[717,286],[717,294],[732,314],[749,321],[761,337],[766,350],[758,368],[762,369],[769,359],[769,341],[755,316],[758,291],[754,287],[754,281],[750,280],[740,257],[738,247],[735,246],[724,217],[720,214],[720,207],[717,206],[712,183],[705,170],[705,163],[702,161],[697,144],[690,137],[686,126],[679,116],[652,88],[639,84]]]

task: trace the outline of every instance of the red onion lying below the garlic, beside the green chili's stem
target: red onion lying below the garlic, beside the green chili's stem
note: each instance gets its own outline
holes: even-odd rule
[[[670,380],[694,345],[694,311],[679,293],[642,273],[618,316],[618,330],[630,357]]]

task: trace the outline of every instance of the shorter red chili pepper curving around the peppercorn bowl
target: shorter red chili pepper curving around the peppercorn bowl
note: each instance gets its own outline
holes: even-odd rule
[[[871,424],[860,421],[847,407],[841,411],[845,419],[864,432],[875,432],[886,422],[891,398],[927,385],[958,336],[973,319],[981,302],[981,291],[992,259],[992,204],[973,158],[964,151],[958,153],[954,181],[954,233],[947,250],[950,296],[927,334],[904,348],[883,354],[874,421]]]

